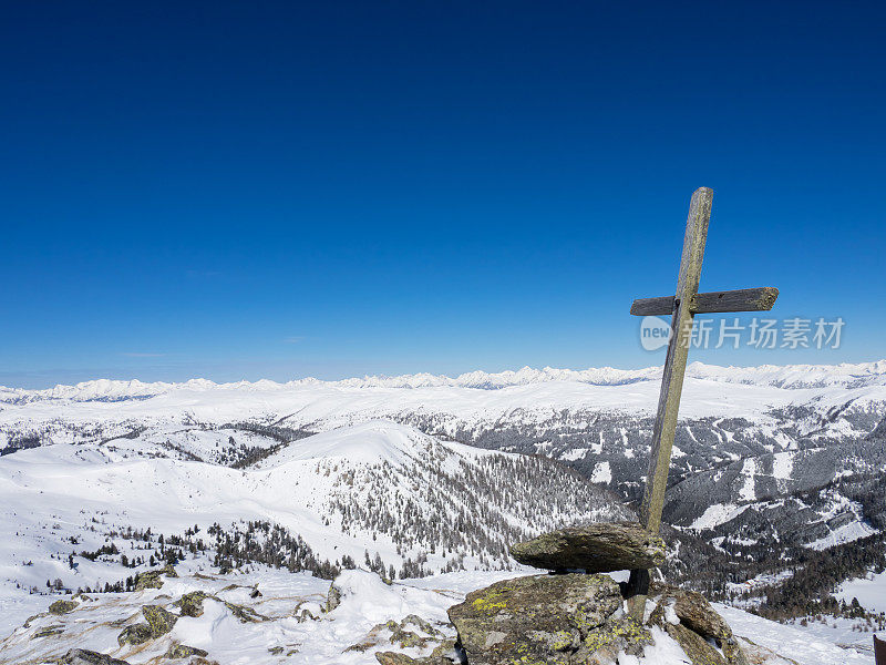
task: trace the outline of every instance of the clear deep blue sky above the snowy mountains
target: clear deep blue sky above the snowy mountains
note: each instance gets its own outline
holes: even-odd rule
[[[660,364],[773,285],[886,356],[886,3],[17,2],[0,383]]]

